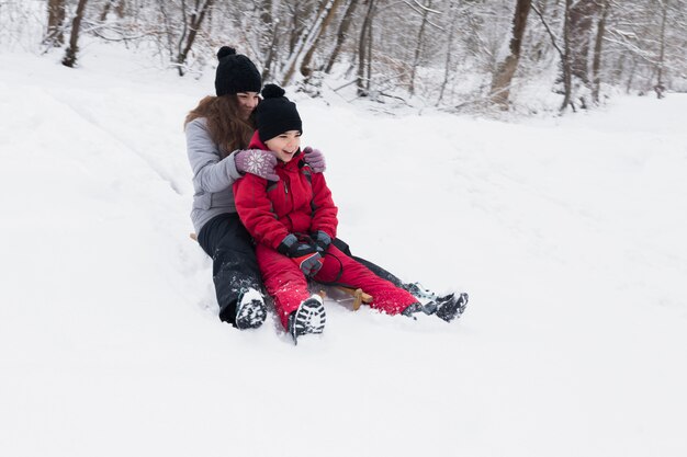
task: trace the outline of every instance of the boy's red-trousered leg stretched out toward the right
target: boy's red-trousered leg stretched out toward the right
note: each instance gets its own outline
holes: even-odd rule
[[[339,273],[341,273],[340,276]],[[338,279],[337,276],[339,276]],[[403,312],[409,305],[417,302],[417,298],[407,290],[380,278],[334,245],[327,249],[324,265],[315,276],[315,281],[336,282],[353,288],[360,287],[372,296],[370,306],[387,315]]]

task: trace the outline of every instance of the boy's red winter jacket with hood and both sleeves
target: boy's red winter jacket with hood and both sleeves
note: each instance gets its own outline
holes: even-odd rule
[[[249,149],[268,150],[256,132]],[[289,233],[322,230],[336,237],[338,208],[322,173],[313,173],[299,152],[275,167],[277,183],[247,173],[234,183],[236,210],[256,242],[273,249]]]

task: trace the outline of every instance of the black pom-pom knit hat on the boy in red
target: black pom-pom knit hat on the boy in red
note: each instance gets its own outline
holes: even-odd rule
[[[274,138],[289,130],[303,133],[303,123],[296,104],[284,96],[284,90],[275,84],[266,84],[262,101],[256,108],[256,124],[260,141]]]

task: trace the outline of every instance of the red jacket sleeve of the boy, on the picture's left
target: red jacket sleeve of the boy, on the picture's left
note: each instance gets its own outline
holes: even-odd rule
[[[234,202],[238,217],[257,242],[277,249],[289,235],[286,227],[272,213],[266,179],[246,173],[234,182]]]

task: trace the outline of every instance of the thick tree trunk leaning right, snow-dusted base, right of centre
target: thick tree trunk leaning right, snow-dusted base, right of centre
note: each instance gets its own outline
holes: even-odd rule
[[[510,95],[510,83],[518,69],[520,61],[520,49],[522,47],[522,36],[527,27],[527,16],[532,5],[531,0],[517,0],[515,14],[513,16],[513,36],[510,38],[510,54],[497,68],[492,81],[492,103],[502,110],[508,110],[508,96]]]

